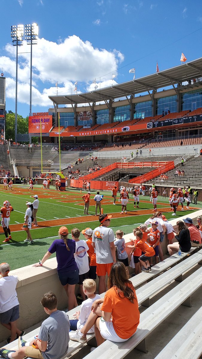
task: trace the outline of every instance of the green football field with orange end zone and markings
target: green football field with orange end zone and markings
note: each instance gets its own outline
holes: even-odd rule
[[[98,217],[95,216],[95,202],[93,197],[96,191],[91,191],[91,202],[89,206],[89,216],[83,214],[84,202],[82,200],[80,190],[68,189],[65,192],[56,192],[55,187],[49,191],[42,190],[41,186],[34,186],[33,191],[28,191],[28,186],[14,185],[13,192],[4,191],[3,186],[0,185],[0,204],[3,205],[5,200],[8,200],[13,206],[14,211],[10,215],[10,230],[12,232],[12,241],[4,244],[5,235],[2,227],[0,228],[0,261],[9,262],[12,269],[23,267],[29,264],[38,262],[39,259],[47,252],[52,241],[57,238],[58,230],[61,225],[65,225],[69,233],[72,228],[80,230],[90,227],[92,229],[99,225]],[[113,205],[111,192],[100,192],[104,195],[101,202],[103,212],[112,214],[110,227],[114,233],[117,229],[122,229],[124,233],[131,233],[133,228],[138,224],[144,223],[152,215],[152,203],[148,196],[140,196],[139,209],[134,208],[133,197],[129,194],[129,203],[127,204],[127,215],[120,214],[121,205],[116,199],[116,205]],[[37,212],[37,221],[39,227],[31,229],[34,244],[24,243],[26,238],[26,231],[21,230],[24,223],[24,213],[27,209],[26,201],[33,201],[33,195],[37,194],[40,205]],[[119,196],[119,194],[118,194]],[[162,212],[166,212],[167,219],[173,219],[172,212],[169,210],[168,200],[162,200],[158,197],[158,208]],[[200,208],[200,205],[196,207]],[[191,208],[191,207],[190,207]],[[196,210],[196,209],[194,209]],[[99,210],[98,210],[99,211]],[[177,217],[188,215],[190,210],[178,211]],[[84,239],[81,234],[81,239]],[[33,255],[34,253],[34,255]],[[52,255],[53,256],[53,255]]]

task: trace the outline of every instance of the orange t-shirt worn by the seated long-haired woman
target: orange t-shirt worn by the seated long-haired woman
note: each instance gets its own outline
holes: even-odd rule
[[[127,284],[132,288],[133,302],[125,298],[123,292],[120,297],[117,288],[114,286],[107,290],[102,304],[102,311],[112,313],[112,323],[116,334],[122,339],[129,339],[137,330],[139,324],[139,309],[136,291],[130,282]],[[121,295],[122,294],[122,295]],[[103,319],[101,318],[101,321]]]

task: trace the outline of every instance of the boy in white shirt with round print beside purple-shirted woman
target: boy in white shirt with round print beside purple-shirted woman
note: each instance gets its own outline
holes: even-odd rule
[[[72,229],[72,239],[76,242],[75,261],[79,270],[79,291],[83,298],[86,300],[86,296],[83,293],[83,281],[89,276],[89,264],[87,251],[89,250],[86,241],[80,240],[80,230],[78,228]]]

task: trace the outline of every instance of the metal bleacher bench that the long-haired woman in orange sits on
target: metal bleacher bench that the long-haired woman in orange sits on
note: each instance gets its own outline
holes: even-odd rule
[[[162,298],[140,315],[140,322],[136,333],[123,343],[106,340],[85,359],[122,359],[134,348],[147,353],[146,338],[181,304],[187,306],[187,299],[202,285],[202,267],[191,274],[182,283],[170,290]],[[188,306],[190,301],[188,300]]]

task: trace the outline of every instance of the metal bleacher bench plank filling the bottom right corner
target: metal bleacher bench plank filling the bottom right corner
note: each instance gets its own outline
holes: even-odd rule
[[[198,359],[202,355],[202,307],[155,359]]]

